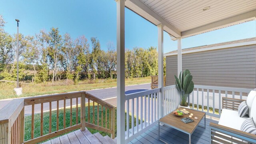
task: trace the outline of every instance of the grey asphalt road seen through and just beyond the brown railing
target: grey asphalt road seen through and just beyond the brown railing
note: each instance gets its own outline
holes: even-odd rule
[[[132,85],[132,86],[126,86],[125,87],[125,93],[130,94],[134,92],[140,92],[144,90],[149,90],[150,84],[138,84],[138,85]],[[103,88],[103,89],[96,89],[96,90],[88,90],[86,91],[89,94],[92,94],[93,96],[96,96],[97,98],[100,98],[101,100],[106,99],[112,99],[115,101],[116,99],[116,88]],[[112,101],[113,101],[112,100]],[[76,100],[72,100],[72,105],[76,104]],[[78,104],[80,104],[80,99],[78,99]],[[62,108],[64,105],[63,101],[59,102],[59,107]],[[66,106],[70,106],[70,100],[66,100]],[[49,111],[49,103],[44,104],[44,111]],[[52,102],[52,110],[57,108],[57,102]],[[36,104],[34,108],[35,113],[41,112],[41,104]],[[30,115],[32,112],[32,106],[25,106],[25,115]]]

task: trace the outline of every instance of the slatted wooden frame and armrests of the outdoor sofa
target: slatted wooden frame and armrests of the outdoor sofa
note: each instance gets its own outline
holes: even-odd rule
[[[222,97],[222,108],[238,111],[238,106],[243,101],[244,100],[235,99],[235,98]],[[248,142],[255,144],[256,135],[210,122],[210,143],[211,144],[222,144],[222,143],[248,144]]]

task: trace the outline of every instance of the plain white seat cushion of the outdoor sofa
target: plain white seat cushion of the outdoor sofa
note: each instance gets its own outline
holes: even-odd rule
[[[240,130],[242,123],[248,118],[248,115],[240,118],[238,115],[238,111],[222,109],[219,123],[222,126],[227,126],[230,128],[234,128],[236,130]]]

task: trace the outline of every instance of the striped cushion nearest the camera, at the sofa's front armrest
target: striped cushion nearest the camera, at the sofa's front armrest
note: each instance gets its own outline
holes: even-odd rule
[[[256,134],[256,126],[253,118],[247,118],[241,126],[243,132],[248,132],[250,134]]]

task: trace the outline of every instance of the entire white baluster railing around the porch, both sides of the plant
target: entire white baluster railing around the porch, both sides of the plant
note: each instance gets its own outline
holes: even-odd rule
[[[194,86],[187,102],[190,108],[202,110],[208,116],[220,118],[222,97],[246,99],[252,89],[228,88],[219,86]],[[161,88],[146,90],[125,95],[126,99],[126,143],[140,136],[158,122],[158,110],[161,108],[164,116],[176,110],[180,104],[180,94],[175,85],[162,88],[162,102],[158,102]],[[206,110],[204,110],[206,108]],[[131,114],[131,126],[130,126]],[[140,120],[139,120],[140,119]]]

